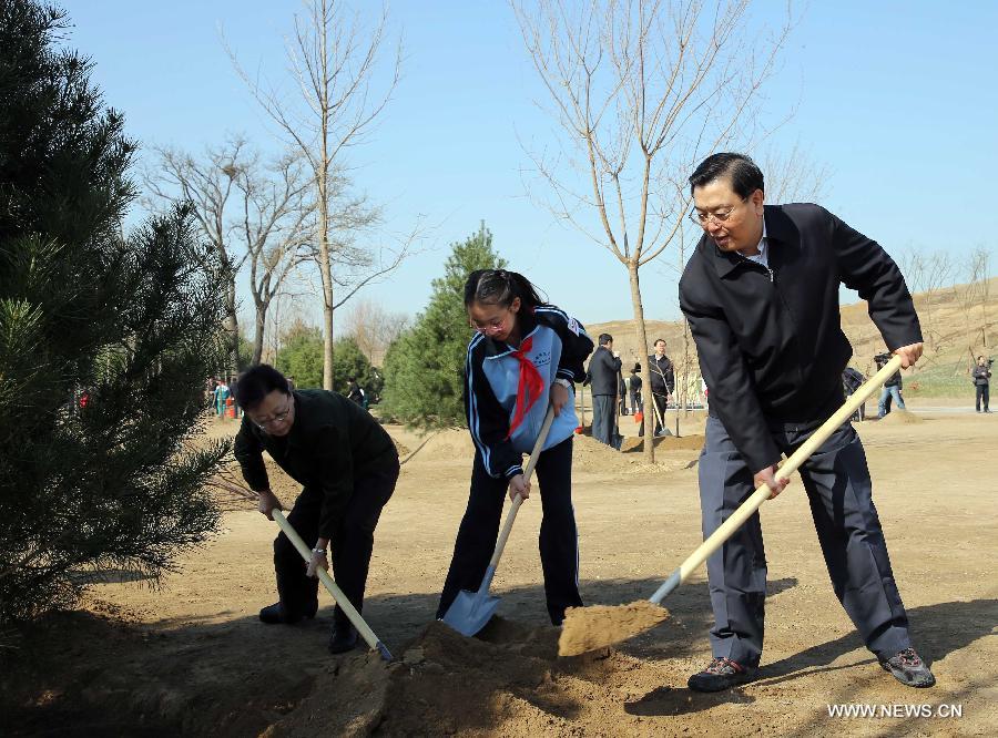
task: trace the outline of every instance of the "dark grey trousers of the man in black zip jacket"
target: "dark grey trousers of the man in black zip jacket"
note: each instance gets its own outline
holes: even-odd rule
[[[780,450],[790,455],[817,424],[771,424],[770,432]],[[835,595],[867,648],[889,658],[910,647],[908,618],[872,499],[866,454],[853,427],[841,426],[800,471]],[[755,491],[752,475],[724,424],[709,418],[700,457],[704,539]],[[783,494],[794,494],[793,488]],[[758,664],[766,596],[758,513],[707,558],[707,578],[715,621],[710,634],[713,655],[743,665]]]

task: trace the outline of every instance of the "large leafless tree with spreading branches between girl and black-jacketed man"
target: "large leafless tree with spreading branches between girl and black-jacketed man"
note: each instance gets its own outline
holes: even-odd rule
[[[747,30],[748,0],[511,0],[523,43],[566,134],[562,156],[532,155],[562,218],[627,269],[648,349],[640,269],[686,227],[686,176],[758,120],[757,91],[790,24]],[[643,381],[651,387],[648,362]],[[654,429],[645,393],[645,437]],[[653,443],[644,444],[646,461]]]

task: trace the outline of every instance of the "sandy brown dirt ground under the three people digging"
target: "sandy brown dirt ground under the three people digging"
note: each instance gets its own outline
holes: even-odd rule
[[[403,467],[376,534],[365,615],[394,664],[360,650],[327,654],[325,592],[314,622],[258,623],[258,608],[275,599],[276,525],[230,500],[220,534],[185,554],[161,588],[106,572],[84,607],[0,649],[0,734],[995,735],[998,416],[918,420],[858,428],[934,689],[906,689],[863,648],[832,593],[800,481],[763,506],[766,650],[761,678],[742,688],[700,695],[685,686],[710,658],[703,572],[663,603],[671,616],[656,628],[612,649],[558,658],[534,499],[521,509],[492,585],[500,617],[473,639],[431,622],[471,452],[465,434],[445,432]],[[408,449],[421,442],[391,432]],[[640,453],[578,440],[574,505],[588,604],[649,596],[700,543],[695,447],[689,437],[666,439],[661,463],[650,468]],[[279,489],[285,498],[296,491],[286,482]],[[839,704],[902,706],[902,714],[829,717]],[[963,717],[905,717],[907,705],[959,706]]]

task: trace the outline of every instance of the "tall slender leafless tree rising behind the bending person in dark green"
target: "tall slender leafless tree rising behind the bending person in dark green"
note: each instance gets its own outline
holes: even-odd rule
[[[345,155],[349,147],[365,141],[388,104],[399,79],[401,45],[396,48],[389,72],[383,79],[378,59],[386,43],[385,9],[374,28],[366,28],[358,14],[348,14],[344,4],[335,0],[306,0],[304,4],[305,13],[295,14],[294,34],[286,44],[299,104],[291,104],[279,90],[251,78],[232,50],[228,53],[257,103],[301,151],[312,172],[317,208],[315,252],[323,286],[323,387],[333,389],[333,316],[344,301],[337,300],[335,293],[344,287],[347,291],[354,286],[359,288],[387,274],[398,266],[411,243],[406,242],[387,264],[369,258],[369,249],[360,249],[368,258],[358,266],[364,273],[359,286],[356,271],[344,277],[334,269],[337,263],[352,264],[350,259],[358,256],[343,228],[356,223],[358,215],[361,222],[368,222],[368,216],[357,209],[365,204],[364,198],[349,201],[342,187]],[[344,204],[344,198],[349,202]],[[347,299],[354,293],[356,289]]]

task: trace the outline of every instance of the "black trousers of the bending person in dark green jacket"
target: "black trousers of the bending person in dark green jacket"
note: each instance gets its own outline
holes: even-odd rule
[[[354,494],[329,539],[333,578],[358,612],[364,608],[364,587],[367,584],[367,568],[374,549],[375,526],[378,524],[381,509],[395,492],[397,481],[398,457],[388,457],[384,463],[356,476]],[[305,488],[287,514],[287,521],[309,549],[318,541],[322,508],[322,490]],[[305,567],[302,554],[287,536],[281,533],[274,541],[274,571],[277,574],[277,593],[281,602],[292,615],[313,612],[318,602],[318,580],[305,576]],[[337,627],[348,624],[346,614],[338,605],[333,617]]]

